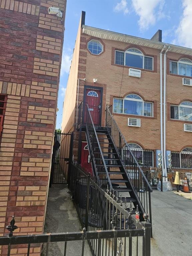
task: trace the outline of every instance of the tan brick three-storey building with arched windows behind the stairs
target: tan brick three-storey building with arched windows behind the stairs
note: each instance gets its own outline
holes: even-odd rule
[[[63,132],[74,131],[73,159],[91,169],[85,129],[78,126],[86,123],[81,102],[88,102],[101,127],[106,105],[112,106],[142,166],[162,165],[164,180],[168,169],[192,171],[191,85],[192,49],[161,42],[160,30],[143,39],[89,27],[82,12],[62,121]]]

